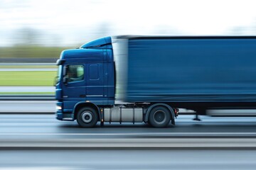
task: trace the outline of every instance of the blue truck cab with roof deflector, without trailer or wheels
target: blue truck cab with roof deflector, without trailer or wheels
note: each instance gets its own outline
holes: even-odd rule
[[[114,105],[114,59],[110,37],[88,42],[78,49],[64,50],[57,64],[58,120],[75,120],[75,113],[86,106],[98,112],[99,106]]]

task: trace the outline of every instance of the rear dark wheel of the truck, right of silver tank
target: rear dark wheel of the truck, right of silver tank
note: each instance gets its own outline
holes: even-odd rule
[[[163,106],[156,106],[149,113],[149,125],[154,128],[165,128],[171,120],[170,111]]]

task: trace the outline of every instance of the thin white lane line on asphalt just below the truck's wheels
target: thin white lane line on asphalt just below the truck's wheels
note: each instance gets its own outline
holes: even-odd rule
[[[0,133],[0,135],[256,135],[256,132]]]

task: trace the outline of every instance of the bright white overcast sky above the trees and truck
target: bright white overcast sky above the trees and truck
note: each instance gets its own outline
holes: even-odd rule
[[[0,46],[13,45],[21,28],[60,45],[119,34],[256,35],[255,6],[255,0],[0,0]]]

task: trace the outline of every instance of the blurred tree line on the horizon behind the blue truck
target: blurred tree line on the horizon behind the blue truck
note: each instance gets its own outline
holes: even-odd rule
[[[91,29],[76,29],[78,33],[74,34],[75,43],[78,42],[82,45],[82,43],[96,38],[113,35],[113,33],[114,35],[119,34],[118,30],[115,30],[114,32],[113,30],[112,24],[107,22],[100,23],[100,25],[92,27]],[[120,33],[132,34],[123,33],[122,31]],[[154,28],[152,33],[156,35],[183,35],[179,30],[176,30],[169,25],[159,25]],[[225,35],[255,35],[255,33],[256,20],[251,26],[233,27],[230,30],[227,30]],[[0,47],[0,58],[58,58],[61,51],[78,47],[78,45],[74,45],[73,47],[60,47],[60,42],[62,42],[61,37],[56,37],[56,35],[46,35],[43,34],[42,30],[29,27],[18,29],[13,37],[11,37],[11,42],[13,44],[11,47]]]

